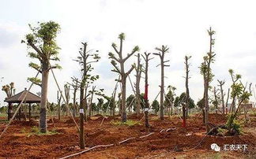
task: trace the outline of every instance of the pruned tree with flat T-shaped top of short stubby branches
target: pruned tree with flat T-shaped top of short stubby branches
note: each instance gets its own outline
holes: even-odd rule
[[[165,63],[170,61],[164,61],[164,55],[168,53],[169,47],[168,46],[161,46],[155,48],[158,53],[153,53],[160,57],[160,67],[161,67],[161,85],[160,85],[160,120],[164,120],[164,67],[170,66],[166,65]],[[159,66],[157,65],[157,66]],[[156,67],[157,67],[156,66]]]

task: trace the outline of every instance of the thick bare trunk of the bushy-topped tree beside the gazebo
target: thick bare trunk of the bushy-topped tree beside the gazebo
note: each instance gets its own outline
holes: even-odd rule
[[[40,131],[47,132],[47,92],[48,92],[48,76],[49,76],[49,64],[42,64],[42,87],[41,87],[41,102],[40,102]]]

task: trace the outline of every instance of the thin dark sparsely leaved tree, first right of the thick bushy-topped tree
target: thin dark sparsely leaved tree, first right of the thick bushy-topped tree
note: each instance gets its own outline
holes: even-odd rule
[[[81,65],[81,84],[80,84],[80,148],[85,149],[85,135],[84,135],[84,119],[86,118],[86,109],[88,106],[87,98],[87,88],[89,84],[92,84],[95,80],[99,79],[99,76],[92,76],[93,67],[92,63],[98,62],[100,60],[98,50],[92,52],[88,50],[87,43],[81,43],[82,47],[79,50],[80,56],[77,57],[77,61]]]

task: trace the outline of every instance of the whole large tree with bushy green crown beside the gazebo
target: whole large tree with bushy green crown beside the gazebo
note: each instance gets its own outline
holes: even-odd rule
[[[30,63],[29,66],[42,73],[40,131],[45,133],[47,131],[46,112],[48,76],[51,68],[59,68],[58,65],[51,66],[51,61],[59,61],[59,47],[57,46],[55,39],[60,27],[54,21],[39,23],[39,26],[37,27],[32,27],[29,24],[29,27],[32,33],[26,35],[25,40],[22,40],[21,43],[26,43],[28,48],[32,48],[33,52],[28,52],[29,57],[36,58],[40,61],[40,65]]]

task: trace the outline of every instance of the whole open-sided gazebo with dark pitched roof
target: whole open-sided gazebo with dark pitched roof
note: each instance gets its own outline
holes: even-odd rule
[[[5,102],[8,102],[8,120],[13,116],[13,113],[11,113],[12,104],[13,103],[21,103],[22,99],[24,98],[24,95],[28,92],[26,98],[24,99],[24,102],[22,104],[28,103],[29,109],[28,109],[28,117],[31,118],[31,104],[37,103],[39,104],[41,102],[41,98],[37,96],[36,94],[32,94],[30,91],[27,91],[25,88],[24,91],[21,91],[18,94],[13,95],[10,98],[6,98]],[[17,115],[17,118],[21,120],[21,116],[26,116],[27,113],[21,113],[21,109],[19,110],[19,114]]]

